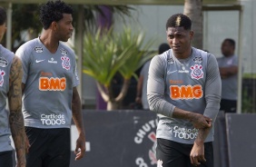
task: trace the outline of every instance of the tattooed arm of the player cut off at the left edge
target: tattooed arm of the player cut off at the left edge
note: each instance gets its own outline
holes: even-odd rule
[[[18,167],[25,167],[25,126],[22,113],[22,63],[15,56],[11,65],[9,78],[9,123],[13,140],[15,142],[16,160]]]

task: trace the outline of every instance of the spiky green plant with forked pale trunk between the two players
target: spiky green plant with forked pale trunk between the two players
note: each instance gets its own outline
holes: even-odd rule
[[[84,37],[84,73],[95,79],[108,111],[121,108],[134,72],[154,55],[148,52],[153,40],[144,44],[143,39],[142,33],[133,34],[127,27],[120,34],[113,34],[112,28],[98,29],[96,34]],[[117,95],[113,93],[116,74],[123,78],[121,91]]]

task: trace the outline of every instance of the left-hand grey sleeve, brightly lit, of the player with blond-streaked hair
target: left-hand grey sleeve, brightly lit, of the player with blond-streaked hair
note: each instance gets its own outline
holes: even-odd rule
[[[166,64],[159,55],[153,57],[148,76],[147,98],[150,110],[164,116],[172,117],[175,106],[164,99]]]

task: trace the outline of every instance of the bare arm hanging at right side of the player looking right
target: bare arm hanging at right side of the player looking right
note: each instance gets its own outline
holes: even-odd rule
[[[76,87],[73,88],[73,99],[72,99],[72,114],[73,120],[78,131],[78,139],[76,140],[76,148],[74,153],[76,154],[75,160],[80,160],[84,157],[85,153],[85,133],[84,133],[84,121],[82,114],[82,105],[79,93]]]

